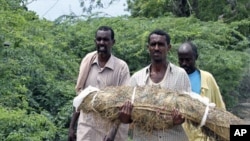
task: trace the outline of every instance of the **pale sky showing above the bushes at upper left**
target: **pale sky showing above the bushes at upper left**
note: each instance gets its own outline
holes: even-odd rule
[[[109,2],[109,0],[102,1],[104,4]],[[126,4],[126,0],[118,0],[108,8],[95,11],[105,12],[110,16],[129,14],[128,12],[124,11],[126,8],[124,4]],[[80,7],[79,0],[35,0],[27,6],[30,11],[36,12],[40,18],[46,18],[51,21],[55,20],[61,15],[68,15],[71,12],[75,13],[76,15],[82,14],[82,8]]]

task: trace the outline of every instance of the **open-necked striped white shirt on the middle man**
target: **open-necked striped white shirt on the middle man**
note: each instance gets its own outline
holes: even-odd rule
[[[164,79],[155,84],[150,80],[150,66],[136,72],[130,78],[131,86],[159,85],[162,88],[191,92],[191,85],[184,69],[169,63]],[[164,131],[153,131],[145,134],[139,128],[133,129],[133,141],[188,141],[187,135],[181,125],[176,125]]]

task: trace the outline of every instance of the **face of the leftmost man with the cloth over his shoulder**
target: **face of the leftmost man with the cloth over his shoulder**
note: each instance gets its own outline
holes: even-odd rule
[[[114,45],[114,40],[111,39],[111,31],[98,30],[95,43],[98,53],[111,54],[111,48]]]

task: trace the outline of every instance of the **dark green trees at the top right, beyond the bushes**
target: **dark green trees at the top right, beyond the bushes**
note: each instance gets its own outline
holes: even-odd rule
[[[177,17],[194,15],[203,21],[226,22],[249,18],[248,0],[127,0],[133,17],[161,17],[169,13]]]

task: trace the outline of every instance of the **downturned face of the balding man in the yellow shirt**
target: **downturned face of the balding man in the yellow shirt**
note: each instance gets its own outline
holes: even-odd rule
[[[180,67],[185,69],[187,74],[191,74],[195,71],[196,58],[191,49],[178,51],[178,59]]]

